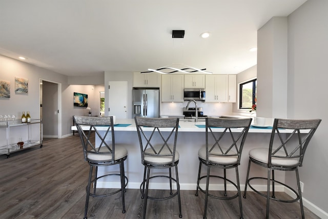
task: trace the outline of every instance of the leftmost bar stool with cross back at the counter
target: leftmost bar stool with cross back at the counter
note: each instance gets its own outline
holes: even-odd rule
[[[125,188],[128,184],[128,178],[125,176],[124,161],[127,160],[128,151],[121,146],[115,147],[113,116],[93,117],[74,115],[74,123],[81,139],[85,161],[90,165],[84,218],[87,218],[90,196],[103,197],[118,192],[121,192],[122,213],[125,213],[124,193],[126,192]],[[101,176],[97,175],[98,167],[112,165],[119,165],[119,174],[109,173]],[[95,172],[94,175],[93,171]],[[97,180],[115,175],[120,177],[119,189],[106,194],[96,193]],[[91,184],[93,184],[93,191],[91,191]]]

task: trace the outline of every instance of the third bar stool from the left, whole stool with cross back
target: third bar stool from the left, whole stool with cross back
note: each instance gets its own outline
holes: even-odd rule
[[[197,178],[196,196],[198,190],[205,194],[205,207],[203,218],[207,218],[208,197],[218,198],[220,200],[231,200],[239,198],[240,218],[242,218],[242,205],[240,195],[238,166],[240,165],[240,157],[242,148],[247,137],[252,118],[206,118],[206,146],[198,151],[199,170]],[[219,129],[221,128],[221,129]],[[201,176],[201,166],[207,167],[207,174]],[[211,175],[211,168],[223,169],[223,176]],[[227,169],[235,168],[236,183],[227,178]],[[217,196],[209,192],[210,178],[220,178],[224,183],[224,196]],[[203,190],[199,183],[205,178],[206,189]],[[235,186],[237,193],[227,195],[227,182]]]

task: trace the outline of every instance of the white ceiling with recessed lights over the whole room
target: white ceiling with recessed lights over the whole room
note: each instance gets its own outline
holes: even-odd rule
[[[257,30],[306,0],[1,0],[0,54],[69,75],[174,63],[236,74]],[[185,30],[185,38],[172,38]],[[211,36],[201,38],[202,32]]]

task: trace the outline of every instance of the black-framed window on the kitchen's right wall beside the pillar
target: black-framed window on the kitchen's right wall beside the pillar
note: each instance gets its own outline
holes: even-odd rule
[[[256,104],[256,84],[257,80],[253,79],[239,85],[239,109],[252,109]]]

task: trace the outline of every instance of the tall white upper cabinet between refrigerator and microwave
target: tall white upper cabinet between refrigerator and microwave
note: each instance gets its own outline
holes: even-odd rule
[[[161,102],[183,102],[183,74],[163,74]]]

